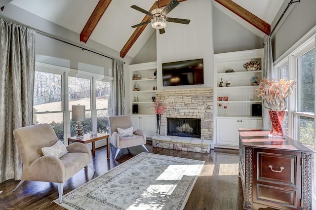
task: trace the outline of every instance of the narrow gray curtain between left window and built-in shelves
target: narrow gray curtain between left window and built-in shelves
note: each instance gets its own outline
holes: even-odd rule
[[[123,62],[114,60],[114,115],[124,115],[125,85]]]

